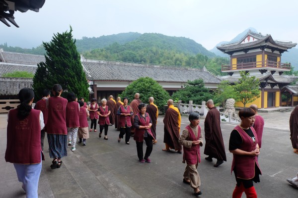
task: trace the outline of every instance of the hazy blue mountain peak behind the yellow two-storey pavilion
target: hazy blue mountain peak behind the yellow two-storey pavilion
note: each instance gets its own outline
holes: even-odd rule
[[[230,41],[222,41],[219,44],[217,44],[213,49],[211,49],[210,51],[215,53],[218,56],[221,57],[229,57],[229,55],[225,54],[224,52],[220,51],[219,49],[217,49],[217,46],[220,46],[224,43],[229,43],[229,42],[235,42],[235,41],[239,41],[243,36],[245,36],[245,34],[248,32],[248,30],[252,30],[254,32],[258,32],[255,28],[247,28],[246,30],[244,30],[242,33],[238,34],[235,38],[233,38]],[[274,38],[273,38],[274,39]],[[295,70],[298,70],[298,48],[292,48],[292,49],[288,49],[288,52],[285,51],[284,53],[282,53],[282,62],[283,63],[291,63],[292,66],[294,66]]]

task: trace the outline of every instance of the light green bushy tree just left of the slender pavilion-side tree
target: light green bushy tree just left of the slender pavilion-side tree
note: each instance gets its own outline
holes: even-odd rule
[[[220,103],[224,106],[224,102],[226,99],[238,99],[238,94],[235,92],[233,85],[231,85],[228,81],[222,81],[219,84],[219,88],[215,92],[215,103]]]

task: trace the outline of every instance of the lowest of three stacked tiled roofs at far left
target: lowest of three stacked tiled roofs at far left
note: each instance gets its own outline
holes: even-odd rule
[[[25,87],[32,88],[32,78],[3,78],[0,77],[0,96],[18,95]]]

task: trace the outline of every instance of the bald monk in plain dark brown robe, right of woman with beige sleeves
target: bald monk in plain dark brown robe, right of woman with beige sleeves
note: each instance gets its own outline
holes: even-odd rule
[[[206,142],[204,154],[209,155],[205,159],[212,161],[212,158],[216,158],[217,162],[213,166],[219,167],[226,161],[220,111],[216,109],[212,99],[208,100],[206,105],[210,110],[207,113],[204,125]]]

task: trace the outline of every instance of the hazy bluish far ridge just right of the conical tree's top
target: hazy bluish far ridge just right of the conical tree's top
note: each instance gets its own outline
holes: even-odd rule
[[[119,33],[101,37],[83,37],[82,39],[76,39],[75,45],[77,51],[84,52],[93,49],[104,48],[113,43],[123,45],[128,42],[132,42],[138,39],[142,34],[137,32]]]

